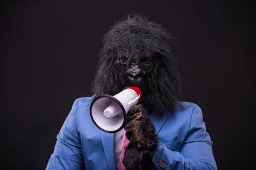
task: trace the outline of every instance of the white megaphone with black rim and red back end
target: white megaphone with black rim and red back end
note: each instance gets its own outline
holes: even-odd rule
[[[120,131],[125,125],[126,113],[140,101],[141,95],[138,87],[127,87],[115,96],[96,96],[90,107],[93,123],[104,132]]]

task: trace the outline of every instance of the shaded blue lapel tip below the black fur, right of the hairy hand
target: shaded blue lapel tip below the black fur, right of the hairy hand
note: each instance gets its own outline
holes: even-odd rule
[[[170,113],[156,113],[156,112],[150,115],[151,121],[154,124],[157,134],[161,130],[161,128],[163,127],[164,123],[166,122],[169,116],[170,116]]]

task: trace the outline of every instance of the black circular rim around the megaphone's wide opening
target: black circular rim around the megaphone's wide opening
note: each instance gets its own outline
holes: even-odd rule
[[[108,97],[109,99],[112,99],[113,101],[115,101],[116,103],[118,103],[118,105],[120,106],[120,108],[122,109],[123,111],[123,114],[124,114],[124,122],[123,124],[120,126],[120,128],[116,129],[115,131],[106,131],[105,129],[102,129],[94,120],[93,118],[93,115],[92,115],[92,106],[93,106],[93,103],[95,103],[95,101],[97,101],[98,99],[102,98],[102,97]],[[118,99],[116,99],[115,97],[113,96],[110,96],[108,94],[102,94],[102,95],[99,95],[99,96],[95,96],[95,98],[93,99],[92,103],[91,103],[91,106],[90,106],[90,116],[92,118],[92,122],[93,124],[95,124],[101,131],[104,131],[104,132],[108,132],[108,133],[115,133],[115,132],[119,132],[121,131],[121,129],[123,129],[124,125],[125,125],[125,122],[126,122],[126,112],[125,112],[125,108],[124,106],[122,105],[122,103],[120,103],[120,101],[118,101]]]

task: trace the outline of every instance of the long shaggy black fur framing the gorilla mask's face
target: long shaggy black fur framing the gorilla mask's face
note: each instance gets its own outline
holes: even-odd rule
[[[150,90],[143,94],[141,104],[148,113],[172,111],[181,96],[180,75],[171,51],[174,39],[161,25],[140,15],[117,22],[104,36],[93,93],[114,95],[124,89],[125,69],[116,60],[149,57],[154,60],[147,73]]]

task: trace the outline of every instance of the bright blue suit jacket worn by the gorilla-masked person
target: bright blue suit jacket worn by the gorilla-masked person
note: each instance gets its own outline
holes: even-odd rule
[[[74,102],[57,136],[46,169],[115,170],[114,134],[100,131],[90,118],[93,97]],[[160,143],[154,153],[157,169],[217,169],[212,141],[193,103],[178,104],[172,113],[150,115]]]

